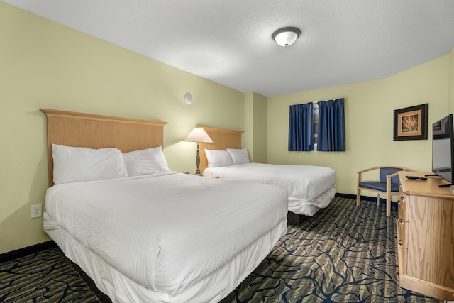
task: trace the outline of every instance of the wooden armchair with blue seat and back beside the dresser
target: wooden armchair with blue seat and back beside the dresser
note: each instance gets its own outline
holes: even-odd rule
[[[361,181],[363,172],[371,170],[380,170],[378,181]],[[358,172],[358,192],[356,194],[356,206],[360,206],[361,190],[377,193],[377,206],[380,204],[380,194],[386,194],[386,216],[391,214],[391,196],[399,194],[399,177],[397,172],[406,170],[398,166],[376,166],[360,170]]]

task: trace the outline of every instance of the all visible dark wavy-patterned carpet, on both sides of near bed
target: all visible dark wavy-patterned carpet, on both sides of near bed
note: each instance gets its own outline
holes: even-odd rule
[[[397,284],[394,217],[336,197],[285,235],[221,303],[438,302]],[[109,302],[60,250],[0,263],[0,302]]]

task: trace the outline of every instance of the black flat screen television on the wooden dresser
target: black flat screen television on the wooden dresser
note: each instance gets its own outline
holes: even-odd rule
[[[445,116],[432,125],[432,172],[442,177],[450,186],[454,180],[454,131],[453,114]]]

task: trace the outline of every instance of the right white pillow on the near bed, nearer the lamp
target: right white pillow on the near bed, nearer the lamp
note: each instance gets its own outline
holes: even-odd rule
[[[170,172],[162,147],[134,150],[124,153],[128,176],[150,175],[155,172]]]

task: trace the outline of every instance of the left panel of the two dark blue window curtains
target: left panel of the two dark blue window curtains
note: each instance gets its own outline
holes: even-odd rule
[[[290,105],[289,151],[314,150],[312,102]]]

